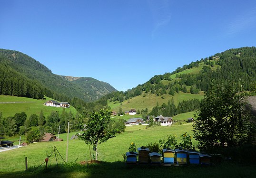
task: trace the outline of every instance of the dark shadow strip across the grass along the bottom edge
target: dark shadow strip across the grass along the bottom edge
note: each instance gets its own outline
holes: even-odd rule
[[[253,178],[256,165],[222,163],[212,166],[152,166],[127,165],[124,162],[100,162],[93,164],[67,163],[49,166],[47,169],[29,168],[20,172],[0,172],[3,178]]]

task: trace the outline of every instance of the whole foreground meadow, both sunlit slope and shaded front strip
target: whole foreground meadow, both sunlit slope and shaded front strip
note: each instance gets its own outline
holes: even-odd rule
[[[255,165],[236,164],[223,162],[212,166],[150,166],[127,165],[123,162],[122,154],[128,151],[129,144],[134,142],[138,147],[150,142],[166,139],[166,135],[179,136],[187,131],[192,134],[192,124],[157,126],[146,129],[143,125],[129,126],[126,131],[113,139],[98,146],[98,159],[94,164],[79,164],[80,161],[89,161],[89,146],[80,140],[69,140],[68,163],[57,157],[59,166],[56,165],[55,156],[51,156],[48,169],[45,169],[44,159],[47,150],[54,146],[66,159],[67,133],[60,134],[64,141],[32,143],[19,149],[0,152],[0,176],[8,178],[253,178],[256,174]],[[69,133],[69,138],[75,133]],[[196,144],[196,141],[193,140]],[[27,171],[25,170],[25,157],[28,158]],[[44,164],[42,164],[44,163]],[[39,166],[42,164],[42,166]],[[37,169],[38,168],[38,169]]]

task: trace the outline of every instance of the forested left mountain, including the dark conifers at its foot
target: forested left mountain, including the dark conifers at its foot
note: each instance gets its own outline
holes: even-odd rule
[[[14,85],[20,86],[20,93],[24,93],[22,85],[29,84],[30,88],[35,88],[40,96],[45,94],[55,99],[80,98],[86,102],[98,100],[105,94],[117,91],[114,87],[106,82],[98,81],[94,78],[87,77],[70,77],[56,75],[46,66],[39,63],[32,57],[18,51],[0,49],[0,94],[17,95],[34,97],[32,91],[29,94],[12,94]],[[14,75],[15,74],[15,75]],[[9,79],[8,79],[9,78]],[[17,78],[23,81],[19,84]],[[9,86],[8,86],[9,84]],[[12,89],[11,89],[12,87]],[[8,92],[2,93],[2,88],[10,88]],[[37,93],[37,92],[34,92]]]

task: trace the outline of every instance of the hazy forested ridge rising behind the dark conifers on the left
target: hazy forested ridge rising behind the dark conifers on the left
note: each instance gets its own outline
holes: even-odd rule
[[[23,75],[38,83],[40,85],[38,88],[41,88],[41,92],[45,95],[49,95],[49,97],[52,98],[54,98],[54,95],[63,95],[63,98],[71,99],[78,97],[85,102],[91,102],[98,100],[105,94],[117,91],[110,84],[98,81],[92,77],[84,77],[90,79],[90,84],[86,84],[86,81],[82,80],[84,85],[81,85],[76,80],[81,79],[82,77],[53,74],[47,66],[44,66],[36,59],[33,59],[32,57],[19,51],[0,49],[0,54],[1,61],[3,63],[6,63],[6,65],[20,75]],[[8,76],[9,73],[5,66],[2,66],[1,69],[2,73]],[[10,82],[13,83],[13,81]],[[2,81],[2,83],[4,83],[4,81]],[[12,92],[10,91],[9,93]]]

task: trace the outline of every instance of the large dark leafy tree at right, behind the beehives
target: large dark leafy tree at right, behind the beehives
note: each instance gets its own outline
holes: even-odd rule
[[[238,146],[251,135],[246,100],[235,82],[212,82],[201,102],[194,135],[200,149]]]

